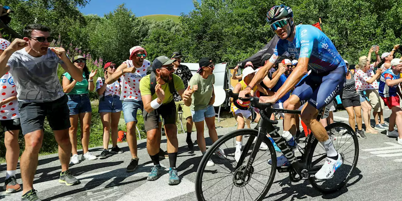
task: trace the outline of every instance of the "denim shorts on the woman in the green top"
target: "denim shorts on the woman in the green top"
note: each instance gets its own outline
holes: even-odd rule
[[[68,109],[70,115],[78,115],[80,113],[91,113],[91,102],[89,101],[88,94],[67,94],[68,96]]]

